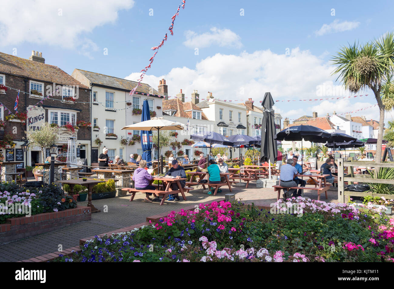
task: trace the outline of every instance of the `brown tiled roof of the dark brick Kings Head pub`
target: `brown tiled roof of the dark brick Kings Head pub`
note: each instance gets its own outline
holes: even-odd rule
[[[59,85],[78,85],[80,88],[89,89],[58,66],[24,59],[2,52],[0,52],[0,72],[46,82],[54,82]]]

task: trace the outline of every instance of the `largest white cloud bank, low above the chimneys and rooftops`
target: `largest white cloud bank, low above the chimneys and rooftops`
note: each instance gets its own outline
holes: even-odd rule
[[[348,94],[339,84],[334,85],[335,76],[331,76],[334,66],[309,50],[294,48],[290,55],[273,53],[270,50],[259,50],[253,53],[243,52],[240,55],[217,53],[206,57],[194,68],[176,67],[165,75],[145,75],[143,82],[157,89],[159,80],[164,78],[170,96],[175,96],[182,88],[185,101],[190,101],[191,93],[197,89],[200,98],[206,98],[208,91],[218,99],[245,102],[252,98],[256,104],[262,100],[265,92],[271,92],[274,100],[282,99],[319,99],[331,97],[354,96],[368,94]],[[148,70],[149,72],[149,70]],[[132,73],[126,79],[136,80],[140,73]],[[357,108],[353,105],[357,103]],[[318,111],[319,116],[333,110],[337,113],[347,112],[375,104],[374,97],[351,98],[332,101],[279,101],[275,112],[282,117],[298,118],[304,114],[312,115]],[[378,117],[377,110],[366,110],[368,118]],[[363,115],[364,110],[358,115]],[[366,115],[367,116],[367,115]]]

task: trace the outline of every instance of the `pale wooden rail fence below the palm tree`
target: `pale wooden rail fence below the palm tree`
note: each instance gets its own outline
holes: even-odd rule
[[[338,202],[348,202],[350,201],[350,196],[372,196],[372,197],[387,197],[386,194],[375,194],[375,193],[366,193],[366,192],[357,192],[357,191],[345,191],[345,182],[349,184],[353,184],[353,182],[362,182],[362,183],[375,183],[375,184],[392,184],[394,185],[394,180],[388,179],[373,179],[371,175],[355,175],[353,172],[353,167],[374,167],[374,168],[394,168],[394,163],[375,163],[371,161],[353,161],[351,160],[344,161],[343,158],[338,160]],[[344,168],[348,167],[348,174],[344,174]],[[348,200],[346,200],[346,196]]]

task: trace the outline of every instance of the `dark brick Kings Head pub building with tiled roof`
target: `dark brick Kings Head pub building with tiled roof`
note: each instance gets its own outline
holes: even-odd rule
[[[39,129],[45,122],[57,123],[60,127],[56,141],[59,153],[63,152],[69,138],[75,137],[76,145],[80,144],[80,148],[75,152],[77,159],[87,158],[89,163],[90,154],[86,152],[91,147],[90,128],[80,127],[72,132],[61,127],[66,123],[77,126],[78,121],[90,121],[88,87],[57,66],[45,64],[42,53],[34,51],[29,59],[0,52],[0,84],[6,87],[6,90],[0,90],[0,119],[5,124],[4,134],[0,132],[0,139],[4,139],[4,135],[12,136],[16,143],[15,149],[20,149],[26,136],[25,131]],[[14,104],[18,90],[20,94],[17,111],[27,114],[26,121],[9,119],[16,115]],[[50,99],[43,100],[51,94]],[[43,103],[40,103],[41,100]],[[3,148],[2,154],[5,155],[5,152]],[[31,166],[45,160],[38,147],[29,147],[27,160],[25,153],[23,155],[25,165]]]

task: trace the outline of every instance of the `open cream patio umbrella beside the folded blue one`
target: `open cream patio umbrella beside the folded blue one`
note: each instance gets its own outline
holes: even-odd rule
[[[157,131],[157,148],[159,149],[160,130],[173,131],[183,130],[183,123],[178,121],[163,120],[162,118],[152,118],[151,120],[141,121],[132,125],[127,125],[123,129],[139,131]],[[160,172],[163,173],[163,166],[160,166]]]

